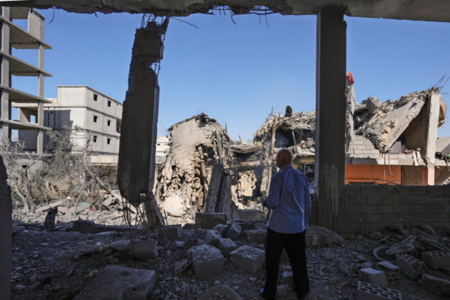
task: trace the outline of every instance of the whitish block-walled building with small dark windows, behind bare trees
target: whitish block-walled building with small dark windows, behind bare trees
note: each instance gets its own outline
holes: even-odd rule
[[[44,124],[59,132],[72,128],[74,150],[82,151],[89,143],[91,164],[117,164],[122,103],[85,85],[57,89],[57,98],[44,105]],[[45,144],[55,146],[48,136]]]

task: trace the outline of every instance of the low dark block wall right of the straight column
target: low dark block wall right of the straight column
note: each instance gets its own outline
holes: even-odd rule
[[[392,224],[450,228],[450,186],[345,186],[340,232],[374,231]]]

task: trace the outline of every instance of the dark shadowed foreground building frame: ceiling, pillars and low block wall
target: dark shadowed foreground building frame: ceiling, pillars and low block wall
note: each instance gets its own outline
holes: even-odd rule
[[[190,15],[195,12],[206,13],[217,5],[217,1],[80,1],[80,0],[32,0],[6,1],[10,6],[34,6],[36,8],[63,8],[67,11],[93,12],[152,12],[154,15],[175,16]],[[352,17],[372,17],[388,19],[408,19],[421,21],[450,22],[450,6],[446,0],[369,0],[369,1],[222,1],[222,6],[235,14],[254,12],[279,12],[282,15],[317,15],[317,59],[316,59],[316,214],[317,223],[323,227],[341,232],[372,230],[389,224],[417,224],[429,222],[435,226],[449,227],[450,188],[447,186],[397,186],[387,188],[378,186],[345,185],[345,59],[346,59],[346,24],[344,15]],[[147,39],[146,46],[141,47],[135,41],[130,71],[130,85],[127,93],[128,103],[124,104],[123,136],[120,142],[127,157],[133,152],[129,149],[139,148],[132,145],[133,132],[152,139],[141,141],[141,148],[134,159],[123,161],[123,191],[127,199],[138,204],[141,192],[146,193],[153,184],[154,145],[156,143],[156,124],[158,116],[159,85],[156,73],[150,66],[162,58],[161,34],[165,26],[151,26],[154,35]],[[142,33],[145,35],[145,33]],[[136,40],[137,37],[136,37]],[[145,49],[148,51],[146,52]],[[151,52],[151,53],[149,53]],[[143,70],[134,69],[138,56]],[[134,76],[134,77],[133,77]],[[147,80],[147,81],[146,81]],[[139,86],[138,82],[148,82]],[[129,98],[128,98],[129,97]],[[137,106],[136,106],[137,105]],[[138,112],[136,107],[144,105]],[[292,104],[294,105],[294,103]],[[138,124],[142,118],[148,123]],[[134,117],[134,118],[133,118]],[[125,123],[129,126],[125,139]],[[275,136],[275,134],[273,134]],[[134,140],[136,141],[136,139]],[[245,154],[245,153],[243,153]],[[143,162],[145,166],[143,167]],[[150,170],[148,170],[150,166]],[[120,157],[119,157],[120,167]],[[137,175],[136,175],[137,174]],[[132,178],[126,179],[126,176]],[[135,176],[136,175],[136,176]],[[142,179],[143,178],[143,179]],[[126,179],[126,180],[125,180]],[[136,180],[135,180],[136,179]],[[8,189],[3,185],[3,193]],[[8,197],[2,197],[0,211],[1,292],[8,293],[10,272],[10,203]],[[206,203],[208,205],[208,203]],[[3,209],[4,208],[4,209]],[[3,263],[4,262],[4,263]]]

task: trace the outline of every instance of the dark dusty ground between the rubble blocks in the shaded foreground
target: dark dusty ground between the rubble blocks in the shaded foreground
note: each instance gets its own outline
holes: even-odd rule
[[[174,276],[170,266],[186,258],[186,249],[174,242],[160,241],[159,258],[137,260],[112,250],[109,244],[116,240],[129,239],[129,233],[107,232],[83,234],[67,232],[70,223],[58,223],[53,231],[45,231],[41,224],[13,222],[12,244],[12,300],[15,299],[72,299],[105,265],[155,270],[157,281],[150,299],[199,299],[208,288],[222,284],[232,288],[242,299],[260,299],[258,289],[264,283],[264,268],[255,274],[244,273],[226,260],[221,274],[198,278],[192,275],[192,267]],[[183,238],[204,238],[204,229],[183,230]],[[422,234],[410,229],[401,233]],[[384,231],[386,240],[400,241],[406,237],[395,231]],[[447,233],[448,234],[448,233]],[[447,242],[445,233],[440,239]],[[339,238],[339,242],[328,247],[308,247],[307,261],[311,292],[307,299],[356,299],[357,272],[361,263],[376,263],[372,249],[379,240],[368,236]],[[246,244],[244,237],[237,245]],[[263,245],[253,245],[263,249]],[[280,265],[280,277],[289,270],[289,263]],[[443,272],[429,271],[432,276],[450,279]],[[289,284],[280,278],[278,299],[295,299]],[[425,290],[416,281],[400,275],[397,285],[390,285],[402,292],[402,299],[449,299]],[[216,295],[214,299],[222,299]]]

